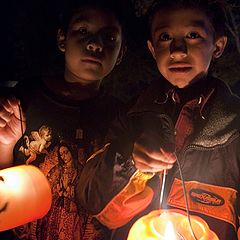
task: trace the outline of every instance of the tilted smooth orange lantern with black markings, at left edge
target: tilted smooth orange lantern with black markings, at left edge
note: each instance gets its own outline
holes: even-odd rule
[[[52,202],[47,178],[31,165],[0,171],[0,231],[43,217]]]

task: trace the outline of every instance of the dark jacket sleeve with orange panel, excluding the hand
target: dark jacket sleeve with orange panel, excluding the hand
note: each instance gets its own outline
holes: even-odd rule
[[[138,171],[130,154],[127,157],[120,148],[116,151],[116,146],[117,142],[106,144],[88,160],[76,189],[80,204],[111,229],[127,223],[153,197],[146,186],[153,174]]]

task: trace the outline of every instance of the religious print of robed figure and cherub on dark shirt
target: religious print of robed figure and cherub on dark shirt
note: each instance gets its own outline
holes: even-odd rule
[[[52,206],[42,219],[17,227],[14,232],[22,240],[104,239],[99,223],[75,200],[77,178],[87,157],[99,147],[99,140],[97,136],[85,140],[83,129],[76,129],[71,140],[56,135],[61,137],[43,125],[29,137],[24,136],[26,147],[21,146],[19,152],[26,157],[26,164],[37,165],[47,177]]]

